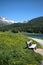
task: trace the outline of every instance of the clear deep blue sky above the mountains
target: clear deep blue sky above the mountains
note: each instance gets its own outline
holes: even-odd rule
[[[16,22],[43,16],[43,0],[0,0],[0,16]]]

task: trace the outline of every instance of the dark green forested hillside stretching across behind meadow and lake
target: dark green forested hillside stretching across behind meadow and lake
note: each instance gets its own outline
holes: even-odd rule
[[[14,23],[0,28],[0,30],[3,29],[30,33],[43,33],[43,16],[34,18],[27,23]]]

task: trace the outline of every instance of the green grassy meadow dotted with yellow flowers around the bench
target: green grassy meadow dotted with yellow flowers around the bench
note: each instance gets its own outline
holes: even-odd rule
[[[21,34],[0,32],[0,65],[39,65],[42,56],[26,48],[27,40]]]

